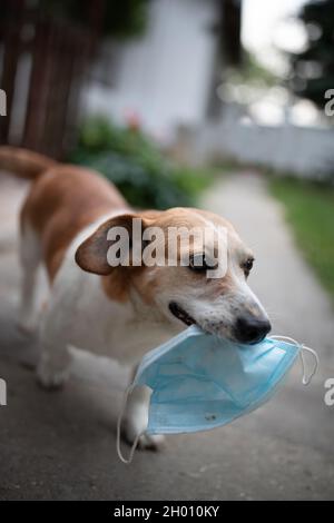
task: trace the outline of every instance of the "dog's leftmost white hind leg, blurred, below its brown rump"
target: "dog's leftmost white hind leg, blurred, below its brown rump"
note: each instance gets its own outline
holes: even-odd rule
[[[23,332],[31,333],[38,319],[36,298],[41,247],[37,234],[28,224],[21,227],[20,263],[22,276],[18,326]]]

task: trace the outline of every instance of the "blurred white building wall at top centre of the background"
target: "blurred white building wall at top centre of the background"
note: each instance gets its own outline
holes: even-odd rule
[[[148,30],[124,43],[114,89],[91,86],[85,109],[124,120],[136,111],[144,126],[161,137],[178,124],[194,125],[204,117],[215,37],[215,0],[155,0]]]

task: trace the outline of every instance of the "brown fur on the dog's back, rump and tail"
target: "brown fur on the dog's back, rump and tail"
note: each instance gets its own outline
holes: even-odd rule
[[[12,147],[0,147],[0,168],[14,170],[32,182],[21,210],[21,227],[38,233],[45,264],[53,279],[63,254],[76,235],[106,213],[128,208],[118,190],[95,172]]]

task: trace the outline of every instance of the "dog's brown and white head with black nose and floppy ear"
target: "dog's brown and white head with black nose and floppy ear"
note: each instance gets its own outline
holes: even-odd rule
[[[215,214],[173,208],[117,216],[79,246],[76,260],[102,276],[110,298],[131,299],[138,314],[153,319],[197,324],[243,343],[259,342],[271,329],[247,284],[253,253]]]

